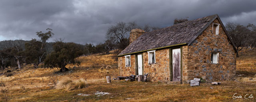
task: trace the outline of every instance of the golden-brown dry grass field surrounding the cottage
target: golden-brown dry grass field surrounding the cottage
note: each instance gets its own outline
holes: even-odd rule
[[[14,76],[0,76],[0,83],[5,84],[5,87],[0,86],[0,90],[8,89],[5,94],[10,102],[256,102],[256,50],[242,50],[236,63],[237,81],[222,81],[218,86],[202,83],[200,86],[191,87],[189,84],[123,80],[112,80],[112,83],[107,84],[106,76],[118,76],[114,52],[108,55],[84,56],[78,60],[81,61],[80,66],[73,68],[74,65],[67,65],[70,71],[59,74],[54,74],[58,68],[34,69],[29,65],[20,70],[8,69],[13,70]],[[74,81],[83,78],[86,80],[86,88],[56,88],[54,83],[67,78]],[[249,80],[250,78],[253,80]],[[96,96],[96,91],[110,94]],[[80,93],[90,96],[78,96]],[[235,93],[243,98],[233,99]],[[253,98],[244,99],[246,94],[252,94]],[[0,102],[5,102],[4,94],[0,95]]]

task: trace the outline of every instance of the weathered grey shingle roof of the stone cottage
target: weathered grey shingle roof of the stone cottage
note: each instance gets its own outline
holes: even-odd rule
[[[128,45],[118,56],[176,44],[189,45],[217,17],[218,15],[214,14],[147,32]]]

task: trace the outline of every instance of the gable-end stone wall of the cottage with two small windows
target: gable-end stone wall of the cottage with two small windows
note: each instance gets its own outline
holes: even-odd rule
[[[218,19],[214,23],[220,24]],[[218,64],[211,64],[212,52],[219,53]],[[210,24],[190,46],[183,46],[182,64],[183,80],[232,80],[236,74],[236,52],[222,26],[216,35]]]

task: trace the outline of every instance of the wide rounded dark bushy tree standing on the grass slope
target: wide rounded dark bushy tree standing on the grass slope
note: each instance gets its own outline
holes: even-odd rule
[[[83,48],[73,42],[56,42],[53,46],[53,52],[46,56],[44,60],[44,65],[46,67],[58,67],[61,68],[60,72],[67,71],[68,68],[65,66],[67,64],[80,64],[76,60],[79,56],[83,54]]]

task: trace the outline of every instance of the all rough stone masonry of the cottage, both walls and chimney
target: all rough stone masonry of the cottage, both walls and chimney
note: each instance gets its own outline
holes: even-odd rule
[[[219,25],[219,34],[212,33],[213,23],[220,24],[216,18],[193,42],[182,45],[182,82],[188,83],[194,78],[206,81],[232,80],[236,74],[236,51],[226,35],[222,25]],[[135,30],[134,30],[135,31]],[[136,40],[140,34],[131,33],[130,41]],[[211,53],[219,53],[218,64],[211,62]],[[155,52],[156,63],[148,64],[148,52],[140,52],[143,58],[143,73],[149,73],[153,82],[169,82],[170,58],[169,48],[157,49]],[[125,67],[125,57],[118,57],[120,76],[130,76],[136,73],[136,54],[131,54],[131,66]]]

